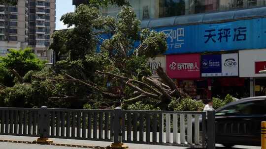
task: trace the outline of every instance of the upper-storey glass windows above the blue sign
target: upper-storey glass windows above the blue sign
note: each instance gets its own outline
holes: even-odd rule
[[[266,0],[128,0],[140,20],[266,6]],[[116,17],[121,8],[102,8]]]

